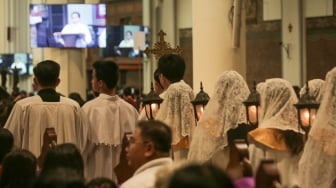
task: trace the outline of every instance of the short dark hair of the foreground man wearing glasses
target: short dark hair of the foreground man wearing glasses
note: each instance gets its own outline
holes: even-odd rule
[[[157,151],[169,153],[172,144],[172,131],[168,125],[158,120],[139,121],[137,127],[144,140],[154,143]]]

